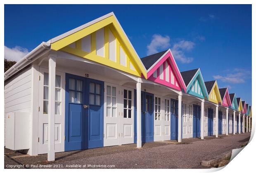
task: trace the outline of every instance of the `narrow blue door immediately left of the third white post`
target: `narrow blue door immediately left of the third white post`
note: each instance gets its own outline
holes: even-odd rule
[[[171,140],[178,139],[178,101],[171,99]]]

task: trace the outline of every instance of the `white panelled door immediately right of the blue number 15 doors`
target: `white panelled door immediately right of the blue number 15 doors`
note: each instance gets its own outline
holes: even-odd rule
[[[104,83],[104,146],[119,145],[119,87]]]

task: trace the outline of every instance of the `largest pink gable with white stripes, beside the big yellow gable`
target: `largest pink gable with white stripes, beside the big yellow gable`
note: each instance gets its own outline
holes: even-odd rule
[[[168,53],[147,72],[147,78],[179,91],[183,89],[186,92],[185,84],[170,50],[168,50]]]

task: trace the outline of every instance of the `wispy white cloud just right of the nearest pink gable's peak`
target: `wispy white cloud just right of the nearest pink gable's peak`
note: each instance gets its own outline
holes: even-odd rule
[[[194,42],[182,40],[175,43],[171,51],[175,59],[182,63],[191,63],[194,58],[185,56],[184,51],[191,51],[193,48]]]

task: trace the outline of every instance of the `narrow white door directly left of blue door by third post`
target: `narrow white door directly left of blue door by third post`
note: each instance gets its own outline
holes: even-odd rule
[[[163,122],[163,134],[164,140],[171,139],[171,101],[169,98],[164,98],[164,118]]]

